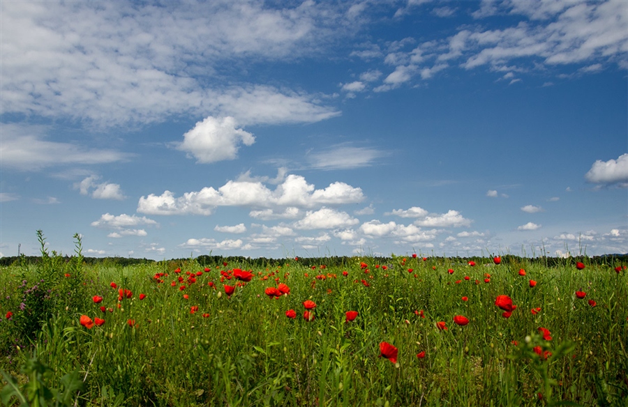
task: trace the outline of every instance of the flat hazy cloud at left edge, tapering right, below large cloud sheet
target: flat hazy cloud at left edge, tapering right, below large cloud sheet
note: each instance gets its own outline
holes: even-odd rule
[[[47,141],[45,126],[0,123],[0,127],[1,166],[10,169],[38,171],[70,164],[106,164],[128,160],[131,156],[114,150],[87,148],[77,143]]]

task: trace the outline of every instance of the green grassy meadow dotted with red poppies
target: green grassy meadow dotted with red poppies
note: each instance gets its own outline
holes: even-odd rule
[[[627,406],[625,259],[0,268],[6,406]],[[328,261],[329,260],[329,261]]]

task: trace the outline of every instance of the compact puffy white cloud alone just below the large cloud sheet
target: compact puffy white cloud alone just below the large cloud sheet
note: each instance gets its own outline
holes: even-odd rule
[[[236,125],[235,119],[230,116],[209,116],[184,134],[184,141],[177,145],[177,149],[186,151],[188,157],[194,157],[203,164],[234,160],[239,144],[251,146],[255,143],[251,133],[236,128]]]

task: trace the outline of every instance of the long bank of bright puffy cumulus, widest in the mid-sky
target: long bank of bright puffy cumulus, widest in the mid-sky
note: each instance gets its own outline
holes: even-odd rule
[[[251,216],[271,219],[282,208],[293,213],[294,210],[289,208],[358,203],[363,199],[364,194],[360,188],[336,182],[322,190],[316,190],[303,176],[291,174],[275,190],[270,190],[261,182],[228,181],[218,190],[204,187],[198,192],[186,192],[178,198],[170,191],[161,195],[149,194],[147,197],[140,197],[137,212],[154,215],[210,215],[217,206],[246,206],[261,208]]]

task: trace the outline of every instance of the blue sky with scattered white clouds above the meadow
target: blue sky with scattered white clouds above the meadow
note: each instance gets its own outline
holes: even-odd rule
[[[628,252],[624,1],[0,11],[3,256]]]

